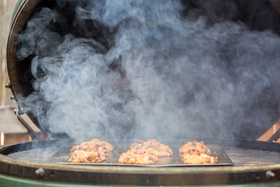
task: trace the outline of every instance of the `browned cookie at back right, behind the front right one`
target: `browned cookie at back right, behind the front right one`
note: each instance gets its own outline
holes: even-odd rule
[[[197,150],[201,153],[205,153],[205,154],[208,154],[208,155],[211,154],[211,150],[206,145],[204,145],[203,141],[200,141],[200,142],[189,141],[179,148],[180,153],[185,153],[188,150]]]

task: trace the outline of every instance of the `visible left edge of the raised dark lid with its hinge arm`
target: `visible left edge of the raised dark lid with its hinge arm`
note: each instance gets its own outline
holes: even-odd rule
[[[7,42],[7,70],[9,75],[9,82],[5,85],[9,88],[13,94],[11,99],[17,103],[17,109],[14,110],[14,114],[21,124],[27,129],[28,134],[32,139],[41,140],[40,136],[21,118],[20,115],[26,113],[31,121],[40,129],[41,132],[46,134],[49,138],[63,138],[67,137],[66,134],[53,134],[49,132],[49,129],[40,125],[36,116],[32,112],[25,112],[22,103],[19,102],[20,98],[27,97],[32,91],[32,75],[30,73],[31,61],[25,59],[23,62],[18,62],[16,57],[16,51],[18,48],[17,40],[20,33],[24,30],[25,24],[37,7],[53,6],[54,1],[40,1],[40,0],[19,0],[16,4],[11,24],[10,32]]]

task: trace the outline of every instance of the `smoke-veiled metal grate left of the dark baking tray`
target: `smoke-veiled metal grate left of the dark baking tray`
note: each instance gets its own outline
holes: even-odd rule
[[[7,156],[16,158],[16,159],[43,162],[43,161],[46,161],[51,156],[53,156],[60,149],[61,149],[61,147],[37,148],[37,149],[30,149],[30,150],[14,152],[14,153],[8,154]]]

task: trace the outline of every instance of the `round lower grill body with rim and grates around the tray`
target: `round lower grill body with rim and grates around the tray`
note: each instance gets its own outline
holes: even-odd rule
[[[165,140],[167,143],[179,142]],[[224,147],[235,166],[142,167],[92,164],[57,164],[50,162],[63,140],[27,142],[0,147],[0,173],[25,177],[25,180],[83,182],[94,185],[277,185],[280,181],[279,143],[243,140],[207,140]],[[40,147],[40,148],[39,148]],[[175,151],[175,150],[174,150]],[[40,156],[39,156],[40,155]],[[1,178],[1,176],[0,176]],[[4,178],[4,177],[2,177]],[[13,178],[13,179],[12,179]],[[18,178],[7,177],[7,180]],[[3,179],[2,179],[3,180]],[[47,185],[46,185],[47,186]]]

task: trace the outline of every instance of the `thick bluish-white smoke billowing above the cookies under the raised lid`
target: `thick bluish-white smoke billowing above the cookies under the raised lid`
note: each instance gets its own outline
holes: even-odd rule
[[[17,52],[34,78],[20,102],[51,133],[255,139],[278,119],[280,38],[233,2],[57,4],[29,19]]]

